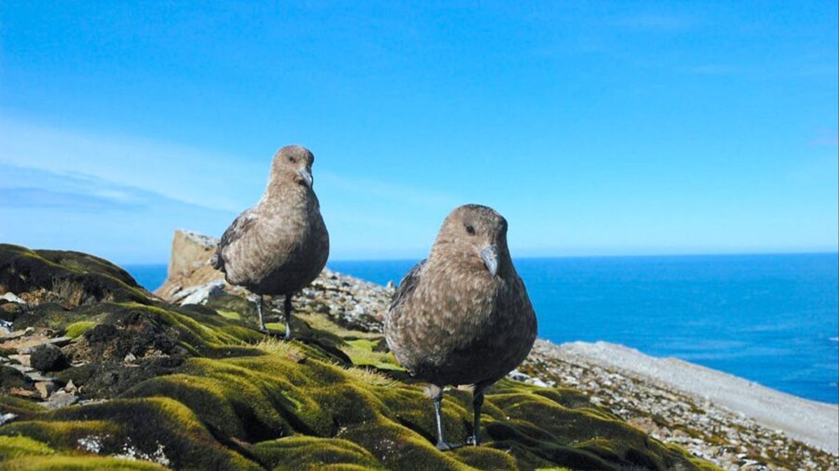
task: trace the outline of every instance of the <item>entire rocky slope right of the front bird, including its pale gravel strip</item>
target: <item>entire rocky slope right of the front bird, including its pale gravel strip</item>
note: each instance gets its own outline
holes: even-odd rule
[[[651,437],[722,468],[839,469],[839,408],[722,371],[618,344],[539,339],[516,374],[582,391]]]

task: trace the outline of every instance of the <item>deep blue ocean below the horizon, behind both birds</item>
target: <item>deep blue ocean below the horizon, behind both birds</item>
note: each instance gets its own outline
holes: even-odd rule
[[[415,261],[331,261],[399,282]],[[516,262],[555,343],[605,340],[815,401],[839,402],[839,255],[524,258]],[[163,265],[128,266],[145,287]]]

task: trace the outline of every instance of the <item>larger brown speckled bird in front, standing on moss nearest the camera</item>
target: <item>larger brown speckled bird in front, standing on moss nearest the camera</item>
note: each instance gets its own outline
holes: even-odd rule
[[[428,381],[438,411],[442,387],[475,385],[478,442],[482,391],[518,366],[536,339],[536,316],[507,247],[507,221],[486,206],[453,210],[429,257],[404,277],[384,326],[393,355]],[[438,443],[442,449],[451,446]]]

